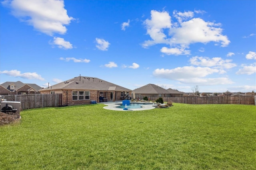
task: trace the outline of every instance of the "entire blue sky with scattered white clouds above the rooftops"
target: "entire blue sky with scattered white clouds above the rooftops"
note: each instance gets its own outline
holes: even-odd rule
[[[0,83],[256,91],[255,0],[2,0]]]

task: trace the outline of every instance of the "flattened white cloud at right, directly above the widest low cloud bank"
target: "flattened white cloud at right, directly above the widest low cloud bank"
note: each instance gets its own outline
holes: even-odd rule
[[[233,68],[236,66],[236,64],[231,63],[232,60],[223,60],[220,57],[214,57],[212,59],[208,57],[192,57],[190,59],[190,64],[196,65],[196,66],[207,66],[207,67],[214,67],[214,68]]]

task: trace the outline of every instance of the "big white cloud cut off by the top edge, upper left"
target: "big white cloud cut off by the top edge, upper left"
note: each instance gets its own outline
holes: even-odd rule
[[[64,25],[73,20],[64,8],[63,0],[12,0],[3,4],[12,9],[15,17],[51,36],[66,33]]]

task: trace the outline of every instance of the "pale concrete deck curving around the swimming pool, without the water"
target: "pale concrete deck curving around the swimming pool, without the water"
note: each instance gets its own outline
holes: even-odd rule
[[[104,102],[102,104],[107,105],[107,106],[103,107],[104,109],[116,110],[116,111],[140,111],[140,110],[150,110],[150,109],[156,108],[156,107],[154,107],[154,106],[156,106],[156,103],[147,103],[147,102],[134,102],[134,103],[142,104],[142,107],[140,107],[138,109],[128,109],[128,110],[124,110],[122,108],[117,108],[117,106],[120,106],[120,104],[122,105],[122,101],[121,102],[112,102],[112,103]]]

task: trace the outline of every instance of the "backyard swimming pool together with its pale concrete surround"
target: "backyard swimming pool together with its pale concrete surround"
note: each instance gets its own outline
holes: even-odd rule
[[[150,110],[156,107],[156,103],[145,103],[145,102],[131,102],[129,106],[127,106],[128,110],[124,110],[125,106],[122,105],[122,102],[115,103],[104,103],[104,109],[108,110],[116,110],[116,111],[140,111],[140,110]]]

